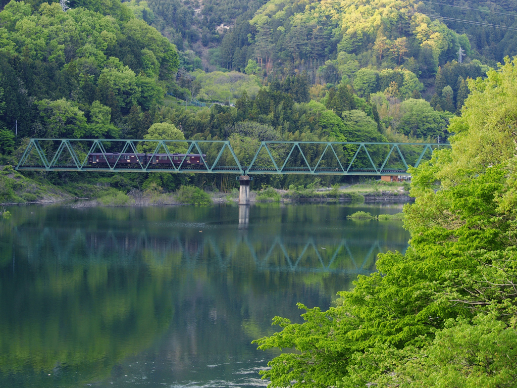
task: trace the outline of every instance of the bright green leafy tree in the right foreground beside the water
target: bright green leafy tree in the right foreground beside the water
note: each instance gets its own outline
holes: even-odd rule
[[[295,349],[263,371],[273,387],[508,387],[517,379],[517,58],[470,81],[451,149],[412,169],[412,239],[359,276],[337,307],[260,349]]]

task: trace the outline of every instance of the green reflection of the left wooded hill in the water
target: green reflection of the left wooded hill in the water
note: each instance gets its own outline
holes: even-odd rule
[[[71,246],[79,249],[74,238]],[[23,239],[23,231],[11,235],[7,241],[15,249],[0,251],[0,385],[10,386],[4,383],[14,376],[16,384],[26,379],[26,386],[34,379],[37,386],[102,379],[169,327],[168,275],[142,281],[148,276],[143,265],[99,260],[67,265],[50,241],[33,247],[25,244],[30,238]],[[88,242],[82,234],[81,241],[95,247],[95,238]],[[68,252],[72,256],[79,254],[74,249]]]

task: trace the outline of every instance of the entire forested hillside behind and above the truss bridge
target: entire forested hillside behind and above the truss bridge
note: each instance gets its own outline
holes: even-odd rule
[[[443,141],[517,29],[512,5],[451,5],[4,1],[0,163],[28,137]]]

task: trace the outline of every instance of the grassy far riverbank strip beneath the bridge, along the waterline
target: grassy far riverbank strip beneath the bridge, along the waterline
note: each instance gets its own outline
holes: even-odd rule
[[[28,175],[28,176],[27,176]],[[262,187],[250,191],[251,202],[409,202],[408,183],[366,181],[358,184],[319,187],[314,184],[291,185],[287,190]],[[74,206],[178,205],[238,202],[239,191],[202,190],[181,186],[175,192],[164,192],[157,185],[129,191],[107,182],[67,182],[57,186],[37,174],[22,174],[11,166],[0,166],[0,204],[56,203],[70,200]]]

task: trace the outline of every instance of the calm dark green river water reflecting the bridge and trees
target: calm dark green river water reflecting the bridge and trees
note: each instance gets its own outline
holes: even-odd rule
[[[0,387],[252,387],[253,339],[328,308],[402,222],[341,204],[9,208],[0,219]]]

